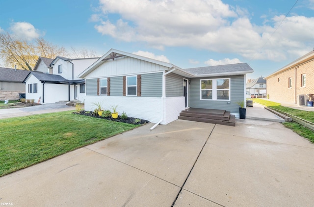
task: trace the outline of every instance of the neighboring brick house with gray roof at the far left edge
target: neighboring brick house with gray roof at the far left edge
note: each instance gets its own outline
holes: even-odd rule
[[[0,68],[0,101],[19,100],[19,93],[25,93],[23,80],[30,71]]]

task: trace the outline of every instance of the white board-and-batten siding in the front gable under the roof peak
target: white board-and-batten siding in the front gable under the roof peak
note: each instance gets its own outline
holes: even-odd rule
[[[114,77],[122,75],[130,76],[164,70],[171,70],[171,68],[125,56],[114,60],[106,60],[84,78]]]

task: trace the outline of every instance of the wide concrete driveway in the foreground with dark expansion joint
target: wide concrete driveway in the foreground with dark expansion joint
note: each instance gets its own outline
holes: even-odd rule
[[[0,178],[14,206],[313,206],[314,145],[280,123],[133,129]]]

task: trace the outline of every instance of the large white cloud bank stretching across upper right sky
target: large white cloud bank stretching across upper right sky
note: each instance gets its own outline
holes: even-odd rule
[[[284,16],[263,15],[263,25],[255,25],[250,11],[222,0],[100,0],[100,5],[102,13],[91,17],[98,32],[160,50],[192,47],[281,61],[312,50],[314,42],[314,18],[290,16],[276,30]]]

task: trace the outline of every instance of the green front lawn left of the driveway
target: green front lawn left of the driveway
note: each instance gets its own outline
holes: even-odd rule
[[[0,119],[0,176],[136,127],[72,111]]]

